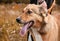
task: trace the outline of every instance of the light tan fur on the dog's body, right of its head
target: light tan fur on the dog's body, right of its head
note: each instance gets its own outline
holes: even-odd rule
[[[56,22],[55,17],[49,15],[48,24],[40,30],[44,41],[58,41],[58,26]]]

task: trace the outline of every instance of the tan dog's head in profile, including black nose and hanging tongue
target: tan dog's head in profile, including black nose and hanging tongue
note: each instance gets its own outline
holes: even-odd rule
[[[40,28],[43,23],[47,23],[47,16],[46,8],[40,5],[29,4],[16,19],[18,23],[24,24],[21,35],[25,35],[31,27]]]

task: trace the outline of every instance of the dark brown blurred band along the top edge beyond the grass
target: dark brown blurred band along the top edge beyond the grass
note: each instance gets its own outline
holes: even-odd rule
[[[30,0],[0,0],[0,3],[30,3]],[[56,0],[56,3],[60,5],[60,0]]]

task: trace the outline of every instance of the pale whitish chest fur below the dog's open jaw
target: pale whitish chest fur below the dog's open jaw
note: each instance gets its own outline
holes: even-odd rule
[[[28,41],[32,41],[31,35],[32,35],[34,41],[42,41],[42,37],[38,33],[37,29],[36,28],[31,28],[31,30],[32,30],[32,33],[30,32]]]

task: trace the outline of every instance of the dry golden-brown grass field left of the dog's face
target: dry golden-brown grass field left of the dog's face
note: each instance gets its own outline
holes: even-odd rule
[[[21,25],[16,22],[25,6],[26,4],[0,4],[0,41],[27,41],[27,36],[19,35]]]

